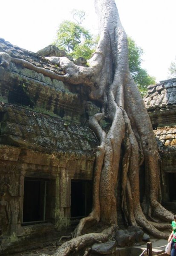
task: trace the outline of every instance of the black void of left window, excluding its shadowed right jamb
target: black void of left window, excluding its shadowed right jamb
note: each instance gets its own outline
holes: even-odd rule
[[[23,197],[23,223],[46,219],[46,180],[25,178]]]

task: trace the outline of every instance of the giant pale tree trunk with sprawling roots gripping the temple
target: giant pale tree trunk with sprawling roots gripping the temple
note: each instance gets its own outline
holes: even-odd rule
[[[64,73],[63,81],[90,87],[89,97],[99,101],[101,113],[89,120],[97,134],[97,148],[93,181],[92,212],[83,218],[77,229],[77,238],[63,244],[55,255],[69,255],[90,241],[106,240],[113,229],[100,234],[88,234],[81,238],[85,224],[100,221],[111,227],[117,221],[117,184],[119,162],[122,153],[121,208],[128,225],[139,225],[159,238],[165,234],[151,222],[152,216],[164,220],[173,215],[161,204],[159,154],[153,128],[138,88],[128,66],[127,35],[121,25],[114,0],[95,0],[99,19],[100,40],[96,52],[89,60],[89,67],[78,67],[67,58],[50,57]],[[15,60],[14,60],[15,61]],[[111,122],[107,134],[99,122],[106,117]],[[145,166],[145,195],[142,207],[139,201],[139,167]]]

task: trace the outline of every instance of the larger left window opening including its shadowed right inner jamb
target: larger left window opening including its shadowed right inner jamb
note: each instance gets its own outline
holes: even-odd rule
[[[22,225],[53,222],[52,205],[55,205],[55,180],[25,177]]]

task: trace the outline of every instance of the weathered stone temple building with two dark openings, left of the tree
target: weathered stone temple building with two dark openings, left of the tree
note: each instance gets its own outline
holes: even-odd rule
[[[99,108],[81,85],[7,64],[4,52],[64,74],[42,56],[0,39],[0,230],[6,250],[27,239],[47,240],[72,216],[89,213],[99,142],[87,119]],[[87,209],[76,211],[79,201]]]

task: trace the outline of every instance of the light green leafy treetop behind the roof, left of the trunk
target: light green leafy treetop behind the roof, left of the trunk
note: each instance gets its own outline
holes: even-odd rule
[[[54,44],[66,51],[73,58],[83,57],[89,59],[94,51],[95,42],[92,35],[83,26],[75,22],[65,20],[59,27]]]

